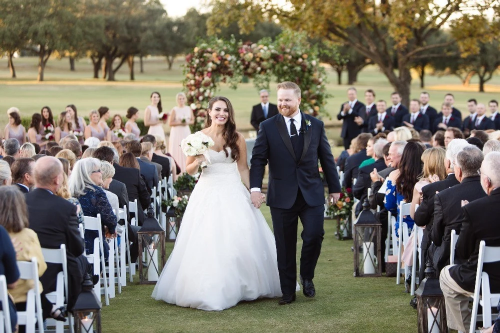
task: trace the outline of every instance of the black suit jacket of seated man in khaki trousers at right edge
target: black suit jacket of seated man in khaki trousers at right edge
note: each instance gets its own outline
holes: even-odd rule
[[[499,207],[500,188],[462,207],[462,226],[456,242],[455,258],[463,263],[451,266],[449,274],[467,291],[474,291],[479,242],[484,240],[486,246],[500,246],[500,228],[497,222]],[[491,292],[500,292],[498,262],[484,263],[482,269],[489,275]]]

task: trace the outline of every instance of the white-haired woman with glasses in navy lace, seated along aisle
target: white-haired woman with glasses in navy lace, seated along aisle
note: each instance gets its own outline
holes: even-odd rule
[[[116,237],[116,215],[106,194],[99,187],[102,184],[101,162],[97,158],[88,157],[76,161],[69,176],[69,192],[78,199],[85,216],[96,217],[100,214],[102,235],[106,238]],[[93,240],[96,231],[85,230],[85,250],[93,253]],[[104,258],[109,256],[109,245],[104,242]]]

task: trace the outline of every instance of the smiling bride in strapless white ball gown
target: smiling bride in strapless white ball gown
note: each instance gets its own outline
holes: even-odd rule
[[[236,132],[227,98],[208,102],[202,132],[215,142],[208,151],[209,165],[191,193],[152,297],[223,310],[241,300],[280,296],[274,237],[250,201],[246,144]],[[195,174],[204,160],[203,155],[187,157],[186,171]]]

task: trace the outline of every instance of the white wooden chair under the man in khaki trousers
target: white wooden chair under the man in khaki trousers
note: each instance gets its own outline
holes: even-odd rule
[[[482,325],[484,327],[491,326],[491,306],[495,306],[500,300],[500,293],[491,293],[489,287],[488,273],[482,270],[483,263],[499,261],[500,246],[486,246],[484,240],[479,242],[479,257],[477,259],[477,272],[475,275],[474,297],[472,301],[472,315],[470,318],[469,332],[475,331],[477,321],[477,308],[482,306]],[[481,295],[479,295],[479,291]],[[496,317],[496,315],[495,315]]]

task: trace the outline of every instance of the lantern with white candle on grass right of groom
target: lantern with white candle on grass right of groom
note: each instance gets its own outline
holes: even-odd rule
[[[380,224],[370,211],[368,200],[354,222],[354,276],[381,276]]]

